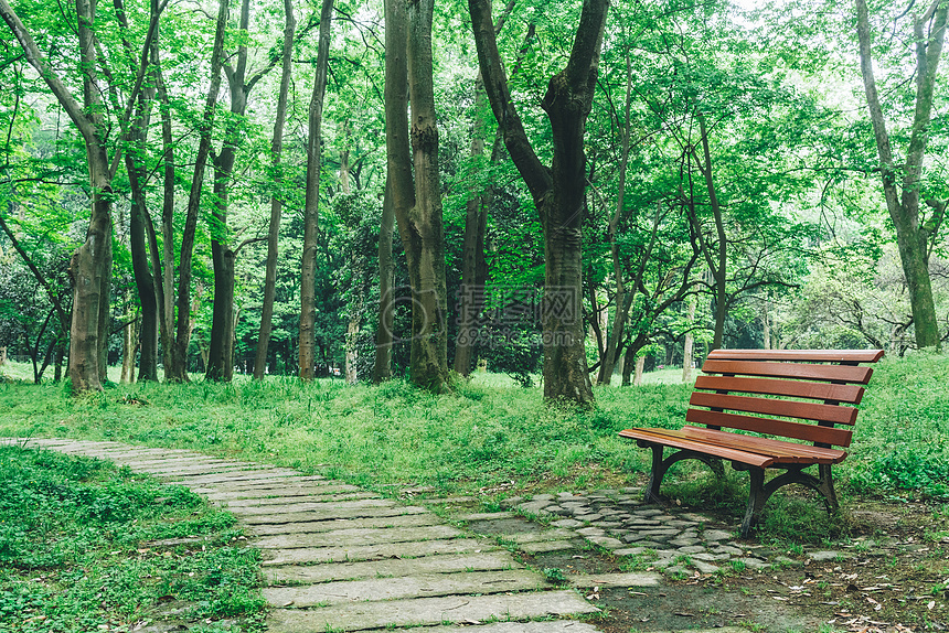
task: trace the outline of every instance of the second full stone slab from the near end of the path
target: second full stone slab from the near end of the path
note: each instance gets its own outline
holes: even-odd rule
[[[371,578],[342,582],[323,582],[303,587],[268,587],[264,599],[273,607],[294,608],[346,604],[366,600],[403,600],[419,597],[468,593],[502,593],[540,589],[543,578],[526,569],[425,573],[393,578]]]

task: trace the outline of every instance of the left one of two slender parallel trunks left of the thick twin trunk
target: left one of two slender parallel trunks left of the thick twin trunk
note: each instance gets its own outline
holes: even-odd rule
[[[267,233],[267,266],[264,273],[264,308],[260,313],[260,333],[257,335],[257,355],[254,361],[254,378],[262,380],[267,368],[267,348],[274,321],[274,299],[277,294],[277,255],[280,236],[280,215],[284,200],[280,186],[284,183],[281,153],[284,149],[284,124],[287,120],[287,99],[290,90],[290,76],[294,69],[294,34],[297,19],[294,15],[292,0],[284,0],[284,56],[280,75],[280,95],[277,98],[277,117],[274,121],[274,137],[270,141],[270,158],[274,165],[276,193],[270,199],[270,225]]]

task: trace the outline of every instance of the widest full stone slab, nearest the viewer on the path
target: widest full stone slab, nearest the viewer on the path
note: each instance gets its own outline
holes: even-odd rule
[[[545,591],[513,596],[451,596],[386,602],[358,602],[322,609],[278,609],[267,621],[269,633],[326,633],[394,626],[463,623],[468,621],[530,620],[547,615],[598,613],[574,591]]]

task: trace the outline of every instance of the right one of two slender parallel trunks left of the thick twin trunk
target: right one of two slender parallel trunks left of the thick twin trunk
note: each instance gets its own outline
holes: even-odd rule
[[[320,221],[320,129],[330,54],[330,21],[333,0],[323,0],[313,93],[310,97],[310,130],[307,137],[307,197],[303,208],[303,256],[300,275],[300,378],[313,379],[316,368],[317,228]]]

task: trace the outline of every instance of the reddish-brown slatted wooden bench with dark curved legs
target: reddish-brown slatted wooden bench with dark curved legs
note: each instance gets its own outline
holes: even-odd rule
[[[646,500],[659,501],[659,485],[673,463],[697,459],[723,475],[721,460],[748,471],[747,536],[771,494],[790,483],[819,492],[829,512],[838,500],[831,465],[846,457],[856,405],[882,350],[716,350],[695,380],[685,421],[679,430],[635,428],[620,431],[652,449]],[[723,429],[734,429],[723,430]],[[753,434],[748,434],[753,433]],[[663,457],[665,448],[675,450]],[[818,466],[818,476],[806,473]],[[766,469],[783,470],[765,482]]]

